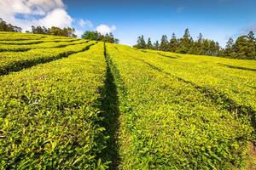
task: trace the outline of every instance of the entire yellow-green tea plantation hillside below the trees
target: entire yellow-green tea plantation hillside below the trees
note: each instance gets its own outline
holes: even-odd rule
[[[254,169],[255,71],[0,32],[0,169]]]

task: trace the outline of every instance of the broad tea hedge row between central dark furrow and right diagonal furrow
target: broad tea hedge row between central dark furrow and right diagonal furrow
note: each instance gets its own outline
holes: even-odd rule
[[[154,56],[113,44],[107,52],[119,87],[120,169],[244,165],[253,138],[250,122],[236,119],[192,84],[152,65]]]

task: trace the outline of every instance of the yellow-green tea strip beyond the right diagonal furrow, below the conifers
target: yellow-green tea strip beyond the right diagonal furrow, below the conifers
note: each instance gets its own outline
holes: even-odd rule
[[[170,59],[159,53],[166,56],[178,55],[179,58]],[[148,51],[148,54],[144,54],[143,59],[162,71],[195,86],[218,92],[245,110],[253,110],[255,114],[256,72],[253,69],[256,69],[256,61],[165,52],[155,54],[154,51]]]

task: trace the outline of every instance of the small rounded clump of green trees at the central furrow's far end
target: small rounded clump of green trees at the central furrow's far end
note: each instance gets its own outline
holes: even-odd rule
[[[101,42],[119,43],[119,39],[114,38],[111,32],[109,34],[107,33],[106,35],[102,35],[97,31],[85,31],[82,38]]]

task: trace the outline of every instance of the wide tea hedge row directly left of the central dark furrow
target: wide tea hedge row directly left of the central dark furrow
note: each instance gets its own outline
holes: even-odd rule
[[[103,169],[103,44],[4,76],[0,169]]]

